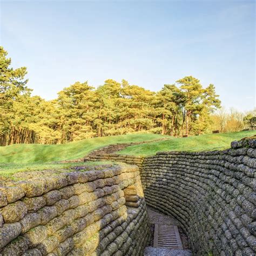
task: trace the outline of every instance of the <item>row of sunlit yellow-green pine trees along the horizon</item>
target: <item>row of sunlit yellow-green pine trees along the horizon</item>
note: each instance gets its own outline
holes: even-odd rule
[[[142,132],[182,137],[211,132],[217,122],[221,129],[215,130],[225,131],[228,123],[227,118],[215,113],[221,106],[214,85],[204,88],[192,76],[165,84],[158,92],[130,85],[126,80],[118,83],[107,79],[97,89],[87,82],[76,82],[58,92],[56,99],[45,100],[31,96],[32,90],[26,86],[26,68],[10,68],[7,54],[0,47],[0,145],[3,146],[59,144]],[[246,122],[249,124],[250,120]],[[235,129],[242,126],[244,119]]]

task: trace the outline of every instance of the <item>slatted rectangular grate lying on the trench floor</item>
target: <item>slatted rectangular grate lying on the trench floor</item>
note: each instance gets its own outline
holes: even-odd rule
[[[176,225],[155,224],[153,246],[183,250],[178,227]]]

